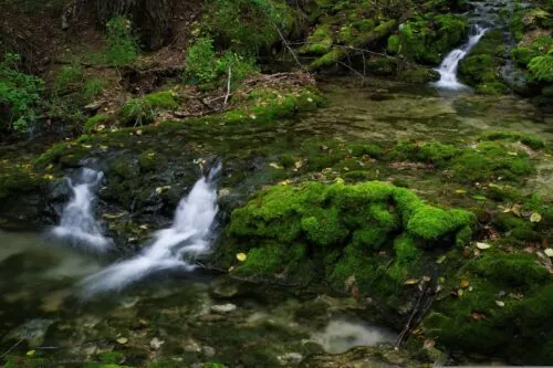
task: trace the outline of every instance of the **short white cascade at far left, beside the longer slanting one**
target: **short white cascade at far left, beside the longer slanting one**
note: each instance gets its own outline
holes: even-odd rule
[[[94,252],[103,252],[109,248],[112,240],[102,234],[93,211],[95,192],[103,179],[102,171],[88,168],[82,168],[74,181],[66,178],[73,198],[63,210],[60,225],[52,230],[54,236]]]

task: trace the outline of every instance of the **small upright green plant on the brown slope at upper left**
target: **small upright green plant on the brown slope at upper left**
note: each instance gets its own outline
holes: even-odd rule
[[[131,20],[125,17],[115,17],[106,25],[105,57],[107,63],[113,66],[133,64],[138,56],[138,43]]]

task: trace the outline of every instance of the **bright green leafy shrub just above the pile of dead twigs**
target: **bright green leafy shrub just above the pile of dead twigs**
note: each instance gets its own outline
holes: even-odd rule
[[[228,77],[231,71],[231,83],[237,84],[255,73],[254,60],[228,51],[220,57],[213,49],[213,41],[201,38],[188,49],[186,54],[186,76],[192,81],[207,84]]]

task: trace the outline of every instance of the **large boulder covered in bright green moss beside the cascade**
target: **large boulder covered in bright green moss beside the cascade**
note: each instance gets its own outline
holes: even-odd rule
[[[395,304],[405,280],[434,264],[427,254],[467,244],[473,222],[470,212],[429,206],[380,181],[281,185],[232,212],[213,259],[241,275],[336,288],[355,283]]]

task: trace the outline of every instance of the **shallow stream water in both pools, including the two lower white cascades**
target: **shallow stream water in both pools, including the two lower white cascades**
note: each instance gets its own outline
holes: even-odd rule
[[[70,182],[73,196],[54,230],[63,242],[56,241],[59,236],[0,231],[0,354],[11,349],[24,356],[32,350],[38,357],[76,366],[115,351],[131,367],[159,356],[170,357],[170,364],[179,367],[205,361],[294,367],[309,354],[394,340],[397,330],[383,329],[377,324],[382,320],[359,312],[366,309],[363,301],[322,291],[296,295],[290,287],[252,285],[217,275],[198,280],[190,273],[194,257],[209,252],[217,203],[229,191],[223,187],[226,180],[243,178],[241,187],[250,191],[283,180],[279,175],[284,170],[271,164],[282,154],[301,158],[312,141],[316,147],[326,141],[400,138],[458,141],[501,129],[534,133],[553,144],[553,117],[515,96],[478,96],[470,91],[442,95],[432,87],[387,81],[359,87],[349,80],[334,80],[322,83],[321,88],[328,106],[293,119],[217,125],[216,132],[198,125],[163,139],[152,135],[152,139],[160,139],[159,153],[171,147],[189,153],[190,147],[201,145],[202,153],[222,159],[226,170],[219,180],[219,169],[215,169],[194,187],[182,189],[177,199],[185,197],[173,224],[155,233],[135,256],[106,264],[108,261],[87,251],[103,250],[94,244],[106,244],[96,220],[102,213],[94,213],[104,179],[91,169]],[[146,139],[147,135],[140,137],[140,149]],[[180,165],[199,158],[190,156]],[[253,157],[253,164],[244,170],[232,169],[244,157]],[[551,193],[551,167],[544,165],[532,190]],[[375,175],[386,180],[386,174],[376,172],[379,169],[375,168]],[[422,197],[444,203],[455,200],[451,191],[437,188],[435,178],[420,172],[401,175],[414,176],[414,187]],[[170,180],[175,187],[179,185],[173,177]],[[155,223],[148,225],[155,228]],[[73,240],[70,245],[87,245],[66,246],[67,236]]]

